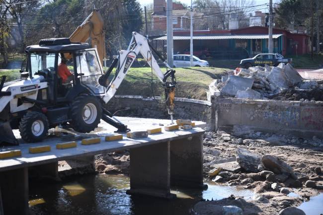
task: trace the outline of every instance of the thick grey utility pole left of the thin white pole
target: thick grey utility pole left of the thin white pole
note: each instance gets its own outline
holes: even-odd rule
[[[167,0],[167,64],[173,67],[173,1]]]

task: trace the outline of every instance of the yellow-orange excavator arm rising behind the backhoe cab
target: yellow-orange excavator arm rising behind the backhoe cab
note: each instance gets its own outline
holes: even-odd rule
[[[101,65],[105,56],[105,35],[103,18],[98,10],[93,10],[83,23],[70,36],[71,42],[88,43],[97,49]]]

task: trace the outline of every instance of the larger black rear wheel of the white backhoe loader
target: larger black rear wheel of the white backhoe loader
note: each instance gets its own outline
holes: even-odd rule
[[[89,112],[90,115],[85,116],[85,111],[87,111],[87,114]],[[72,103],[71,125],[72,128],[77,132],[88,133],[93,131],[100,123],[101,116],[101,104],[95,96],[88,94],[80,95],[76,97]]]

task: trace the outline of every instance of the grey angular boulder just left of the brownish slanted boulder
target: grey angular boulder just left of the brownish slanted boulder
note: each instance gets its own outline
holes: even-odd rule
[[[245,148],[237,148],[237,162],[247,172],[259,172],[260,157]]]

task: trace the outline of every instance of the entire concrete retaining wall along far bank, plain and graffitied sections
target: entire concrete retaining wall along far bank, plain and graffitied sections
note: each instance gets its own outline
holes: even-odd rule
[[[160,97],[156,97],[161,102]],[[116,116],[169,119],[164,104],[153,98],[118,95],[109,103]],[[127,110],[123,110],[128,108]],[[122,110],[122,111],[120,111]],[[207,122],[207,127],[236,135],[254,132],[323,138],[323,102],[248,100],[211,96],[211,102],[175,99],[175,119]]]

